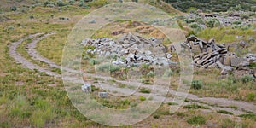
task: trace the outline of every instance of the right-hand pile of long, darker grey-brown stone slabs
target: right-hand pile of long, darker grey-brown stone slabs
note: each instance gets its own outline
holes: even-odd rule
[[[217,44],[214,38],[205,41],[195,36],[190,36],[181,44],[183,48],[192,51],[192,65],[195,67],[219,67],[221,74],[227,74],[236,69],[245,69],[250,63],[256,62],[256,54],[247,54],[244,58],[228,51],[226,44]]]

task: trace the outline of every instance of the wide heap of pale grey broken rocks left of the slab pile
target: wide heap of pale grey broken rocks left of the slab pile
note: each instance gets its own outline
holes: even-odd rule
[[[127,33],[117,39],[97,38],[84,39],[84,46],[93,46],[95,49],[87,49],[87,53],[106,57],[117,55],[114,65],[140,66],[141,64],[154,64],[168,66],[172,61],[172,55],[167,53],[167,48],[157,38],[143,38],[133,33]]]

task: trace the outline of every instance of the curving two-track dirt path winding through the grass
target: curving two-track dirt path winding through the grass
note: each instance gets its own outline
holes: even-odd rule
[[[27,68],[32,69],[32,70],[37,69],[39,72],[44,72],[44,73],[47,73],[51,76],[54,76],[55,78],[59,78],[59,77],[61,77],[60,74],[51,72],[48,69],[45,69],[43,67],[38,67],[38,65],[35,65],[30,61],[27,61],[26,58],[22,57],[19,53],[16,52],[17,47],[23,41],[25,41],[28,38],[35,38],[35,39],[32,40],[31,44],[28,44],[28,49],[26,49],[28,54],[32,56],[32,59],[39,60],[39,61],[44,61],[45,63],[49,64],[50,67],[61,68],[61,66],[56,65],[53,61],[50,61],[49,59],[44,58],[42,55],[39,55],[38,52],[35,49],[36,46],[37,46],[37,43],[40,40],[42,40],[44,38],[47,38],[52,34],[54,34],[54,33],[45,34],[44,36],[42,36],[40,38],[36,38],[38,35],[43,35],[43,33],[37,33],[37,34],[29,35],[26,38],[21,38],[19,41],[15,42],[15,43],[13,43],[9,46],[9,55],[11,55],[15,59],[15,61],[21,63],[23,67],[27,67]],[[68,72],[71,72],[71,73],[79,73],[79,71],[76,71],[76,70],[73,70],[73,69],[68,69],[68,68],[65,68],[65,67],[62,68],[62,69],[67,70]],[[92,74],[84,73],[84,75],[90,75],[91,76]],[[99,76],[95,76],[95,77],[101,78],[101,79],[111,79],[111,77],[99,77]],[[70,79],[70,80],[81,80],[81,79],[75,79],[75,78],[68,78],[68,79]],[[79,81],[79,82],[81,82],[81,81]],[[125,81],[117,80],[117,82],[119,82],[121,84],[141,84],[141,83],[137,83],[137,82],[134,82],[134,81],[132,81],[130,83],[127,83]],[[121,93],[124,93],[124,94],[127,94],[127,92],[132,93],[134,91],[134,90],[131,90],[131,89],[126,89],[126,88],[125,89],[119,89],[118,87],[110,86],[108,84],[104,84],[104,86],[107,86],[108,89],[111,89],[111,90],[118,90],[118,91],[120,91]],[[142,87],[148,87],[148,85],[145,85],[145,84],[141,84],[141,86]],[[165,88],[163,88],[163,86],[160,86],[160,85],[156,85],[156,86],[157,86],[157,88],[154,88],[154,89],[157,92],[165,90]],[[173,96],[175,96],[175,95],[177,95],[177,96],[186,96],[186,95],[188,95],[187,99],[189,99],[189,102],[183,102],[183,106],[196,102],[196,104],[201,104],[201,105],[209,107],[210,109],[207,110],[207,112],[215,112],[215,111],[218,111],[218,110],[226,110],[226,111],[234,113],[234,115],[244,114],[244,113],[247,113],[247,112],[256,113],[256,106],[253,103],[249,103],[249,102],[241,102],[241,101],[235,101],[235,100],[230,100],[230,99],[225,99],[225,98],[199,97],[199,96],[195,96],[195,95],[192,95],[192,94],[177,93],[177,91],[175,91],[175,90],[169,90],[169,93]],[[135,96],[148,96],[149,94],[143,94],[143,93],[140,93],[140,92],[136,92],[136,93],[133,93],[133,95],[135,95]],[[158,94],[151,93],[150,95],[154,96],[154,101],[155,102],[159,102],[160,99],[163,99],[163,98],[165,98],[165,102],[172,102],[173,101],[173,98],[168,98],[168,97],[161,96],[161,95],[158,95]],[[230,106],[236,106],[237,109],[230,108]]]

